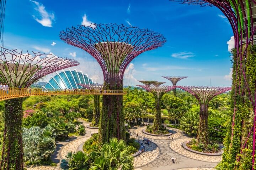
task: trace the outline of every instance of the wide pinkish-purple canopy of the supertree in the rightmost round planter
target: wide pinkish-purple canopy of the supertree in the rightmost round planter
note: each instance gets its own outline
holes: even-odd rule
[[[209,101],[225,91],[231,90],[231,87],[209,87],[209,86],[176,86],[185,90],[197,98],[199,104],[208,104]]]

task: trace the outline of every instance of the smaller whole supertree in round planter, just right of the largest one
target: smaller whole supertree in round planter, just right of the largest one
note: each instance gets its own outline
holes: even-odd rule
[[[158,131],[162,128],[162,118],[161,118],[161,107],[160,101],[162,96],[166,94],[168,91],[175,88],[175,86],[161,86],[164,82],[154,82],[153,85],[137,85],[142,87],[145,90],[151,92],[155,99],[155,115],[154,115],[154,122],[153,122],[153,130]]]

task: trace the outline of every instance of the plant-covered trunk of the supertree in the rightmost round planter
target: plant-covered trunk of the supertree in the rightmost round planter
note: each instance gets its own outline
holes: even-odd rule
[[[203,143],[206,145],[209,144],[208,106],[207,106],[207,104],[200,105],[197,143]]]

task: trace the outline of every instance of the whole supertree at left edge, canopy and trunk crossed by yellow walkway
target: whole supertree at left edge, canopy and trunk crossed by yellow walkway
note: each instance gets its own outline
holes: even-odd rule
[[[43,53],[22,53],[17,50],[0,51],[0,82],[10,87],[29,87],[47,74],[78,62]],[[5,101],[4,134],[2,141],[1,170],[22,170],[22,98]]]

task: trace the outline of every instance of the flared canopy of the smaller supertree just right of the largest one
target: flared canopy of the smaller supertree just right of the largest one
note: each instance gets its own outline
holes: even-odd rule
[[[157,99],[159,99],[162,95],[167,93],[168,91],[175,88],[175,86],[144,86],[144,85],[137,85],[142,87],[145,90],[151,92]]]

